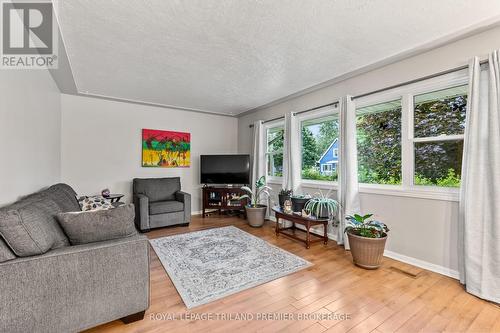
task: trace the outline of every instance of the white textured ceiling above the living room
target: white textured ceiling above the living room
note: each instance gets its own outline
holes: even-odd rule
[[[500,15],[498,0],[53,0],[80,93],[238,114]]]

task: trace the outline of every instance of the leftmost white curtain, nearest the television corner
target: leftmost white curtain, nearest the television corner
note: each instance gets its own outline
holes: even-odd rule
[[[253,147],[252,147],[252,190],[255,191],[255,182],[266,175],[266,133],[262,120],[253,124]],[[254,192],[255,193],[255,192]],[[269,205],[267,199],[261,199],[261,203]],[[269,212],[266,212],[268,218]]]

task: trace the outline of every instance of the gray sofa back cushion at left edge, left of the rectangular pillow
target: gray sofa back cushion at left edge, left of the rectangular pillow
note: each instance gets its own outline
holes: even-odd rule
[[[30,202],[17,209],[0,210],[0,235],[19,257],[43,254],[68,242],[55,214],[61,210],[52,200]]]

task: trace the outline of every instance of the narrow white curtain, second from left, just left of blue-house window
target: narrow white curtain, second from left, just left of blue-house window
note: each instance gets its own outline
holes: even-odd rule
[[[285,114],[285,140],[283,142],[283,188],[297,193],[300,186],[301,151],[300,131],[297,117]]]

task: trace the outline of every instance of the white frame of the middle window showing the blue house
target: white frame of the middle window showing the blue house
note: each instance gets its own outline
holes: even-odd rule
[[[336,116],[340,123],[340,101],[334,106],[327,106],[315,111],[306,112],[297,116],[298,127],[298,135],[300,138],[300,184],[305,187],[319,188],[319,189],[333,189],[336,190],[338,188],[338,180],[313,180],[313,179],[303,179],[302,178],[302,123],[309,120],[314,120],[317,118],[323,118],[328,116]],[[338,172],[338,168],[337,168]]]

